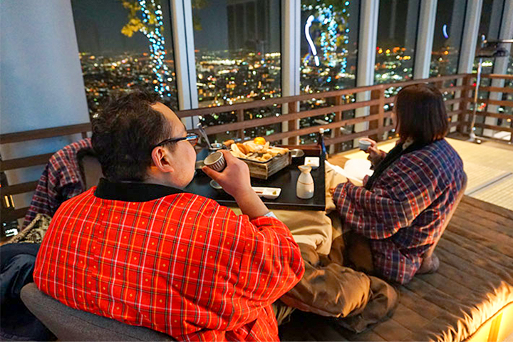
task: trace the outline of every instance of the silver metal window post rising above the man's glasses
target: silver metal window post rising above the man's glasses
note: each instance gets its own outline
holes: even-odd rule
[[[191,0],[170,0],[175,52],[175,73],[180,110],[198,107],[194,31]],[[186,118],[187,130],[196,128],[197,117]]]

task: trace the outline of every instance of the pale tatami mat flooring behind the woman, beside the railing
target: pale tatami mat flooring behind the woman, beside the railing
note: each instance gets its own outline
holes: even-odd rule
[[[468,177],[467,195],[482,199],[500,207],[513,210],[513,147],[499,148],[487,142],[477,145],[473,142],[447,138],[447,141],[462,157]],[[380,142],[381,150],[388,152],[396,140]],[[349,159],[366,159],[363,151],[352,150],[339,154]],[[337,159],[333,156],[333,160]]]

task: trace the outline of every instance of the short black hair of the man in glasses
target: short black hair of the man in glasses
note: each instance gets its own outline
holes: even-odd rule
[[[116,95],[93,118],[91,142],[111,182],[145,180],[153,147],[171,137],[169,121],[152,108],[159,100],[140,90]]]

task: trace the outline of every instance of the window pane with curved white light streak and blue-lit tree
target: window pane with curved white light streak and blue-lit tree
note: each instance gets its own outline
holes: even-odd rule
[[[356,86],[360,0],[301,1],[301,92]]]

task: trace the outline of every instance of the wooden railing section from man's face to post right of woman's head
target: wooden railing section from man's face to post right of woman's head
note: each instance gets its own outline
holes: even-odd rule
[[[389,88],[399,88],[408,86],[409,84],[426,82],[426,83],[435,83],[440,90],[444,93],[454,93],[457,95],[456,98],[447,100],[447,105],[453,104],[463,104],[467,101],[467,94],[463,93],[462,96],[460,93],[462,90],[468,90],[470,87],[470,77],[469,75],[452,75],[452,76],[442,76],[438,78],[427,78],[425,80],[415,80],[415,81],[405,81],[399,83],[388,83],[388,84],[380,84],[376,86],[366,86],[366,87],[358,87],[358,88],[350,88],[343,90],[334,90],[328,91],[324,93],[313,93],[313,94],[305,94],[305,95],[296,95],[289,96],[284,98],[271,98],[269,100],[257,100],[250,103],[239,103],[235,105],[229,106],[221,106],[221,107],[213,107],[213,108],[200,108],[200,109],[192,109],[192,110],[182,110],[177,113],[180,118],[187,118],[197,115],[214,115],[220,113],[237,113],[237,122],[228,123],[224,125],[215,125],[211,127],[207,127],[205,130],[208,135],[214,135],[217,133],[222,133],[226,131],[236,131],[238,138],[244,138],[244,130],[249,128],[255,128],[264,125],[271,125],[275,123],[289,123],[289,129],[286,132],[274,133],[272,135],[266,136],[266,139],[269,141],[283,140],[286,138],[297,138],[301,135],[307,135],[310,133],[315,133],[319,128],[324,128],[325,130],[331,129],[334,131],[334,135],[331,138],[326,140],[327,145],[336,145],[340,142],[346,142],[349,140],[353,140],[355,138],[363,137],[366,135],[380,135],[381,133],[388,132],[393,129],[393,125],[384,125],[385,118],[390,118],[390,111],[385,111],[384,106],[386,104],[393,103],[395,100],[395,96],[385,97],[385,90]],[[456,86],[457,81],[462,83],[461,86]],[[445,83],[452,82],[451,86],[446,86]],[[356,101],[356,94],[370,92],[371,98],[370,100]],[[347,102],[344,98],[346,95],[353,95],[354,102]],[[306,103],[309,100],[324,100],[326,107],[323,108],[315,108],[310,110],[298,110],[301,108],[301,103]],[[267,118],[253,119],[253,120],[244,120],[244,111],[255,109],[255,108],[269,108],[271,106],[278,106],[279,108],[287,108],[288,113],[282,114],[279,116],[270,116]],[[367,116],[358,117],[358,118],[350,118],[343,120],[342,113],[346,110],[356,110],[358,108],[369,108],[369,114]],[[463,107],[462,107],[463,108]],[[333,122],[328,123],[327,125],[319,125],[314,127],[307,128],[299,128],[298,120],[301,118],[311,118],[319,115],[327,115],[327,114],[335,114],[335,120]],[[462,109],[458,110],[450,110],[447,113],[449,116],[460,115],[463,113]],[[338,128],[342,128],[347,125],[355,125],[357,123],[369,123],[368,130],[364,130],[362,132],[342,135]],[[453,123],[452,125],[455,125]]]

